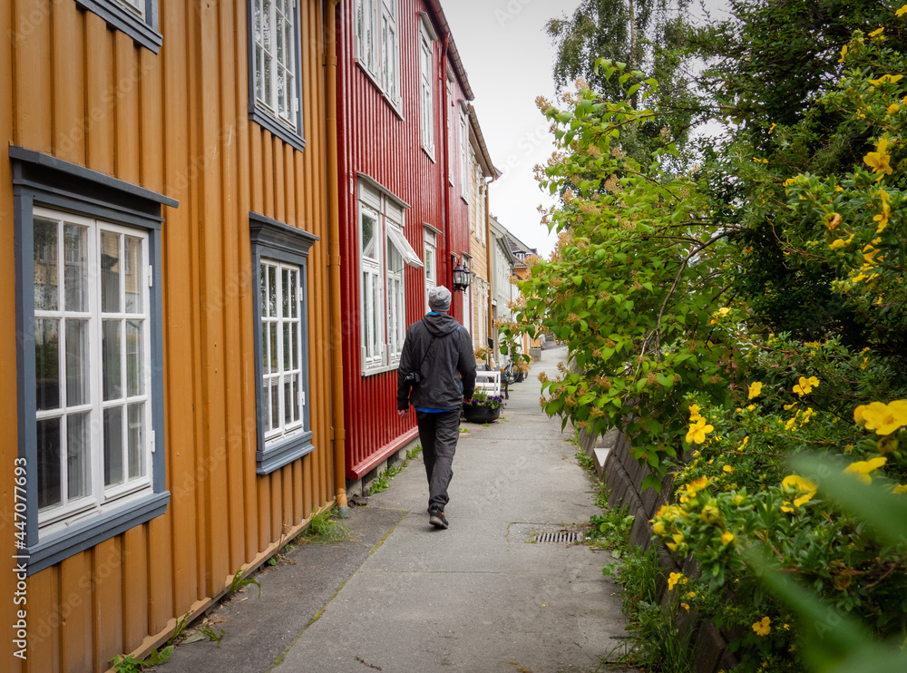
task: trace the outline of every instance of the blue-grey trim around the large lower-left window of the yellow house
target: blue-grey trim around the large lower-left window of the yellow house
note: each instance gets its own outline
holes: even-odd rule
[[[164,456],[163,319],[161,312],[161,206],[179,202],[151,190],[90,171],[68,161],[21,147],[10,147],[13,168],[15,227],[16,387],[18,395],[18,455],[31,475],[25,485],[28,573],[54,565],[74,553],[148,522],[166,512]],[[153,267],[149,318],[151,322],[151,429],[155,451],[151,464],[151,493],[120,507],[108,507],[64,531],[42,536],[38,532],[37,438],[34,402],[34,207],[45,206],[104,219],[148,233]]]

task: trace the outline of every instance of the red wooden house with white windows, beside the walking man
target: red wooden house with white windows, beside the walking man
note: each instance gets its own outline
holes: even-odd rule
[[[469,254],[473,93],[436,0],[343,0],[337,155],[346,476],[416,436],[396,414],[397,362],[433,285]],[[454,294],[453,316],[462,321]]]

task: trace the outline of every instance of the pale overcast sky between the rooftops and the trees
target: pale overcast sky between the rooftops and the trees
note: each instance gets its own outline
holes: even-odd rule
[[[540,223],[538,206],[553,200],[532,175],[553,150],[549,124],[535,105],[538,96],[554,95],[554,48],[544,25],[579,5],[580,0],[443,0],[488,151],[503,172],[492,183],[491,212],[545,257],[556,236]]]

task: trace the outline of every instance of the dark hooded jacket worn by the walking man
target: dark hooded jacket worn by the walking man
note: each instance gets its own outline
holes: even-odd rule
[[[407,381],[411,372],[418,372],[418,384]],[[406,330],[397,375],[397,409],[459,409],[475,391],[469,332],[453,316],[429,313]]]

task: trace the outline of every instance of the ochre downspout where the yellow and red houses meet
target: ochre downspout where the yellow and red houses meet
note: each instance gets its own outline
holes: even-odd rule
[[[337,175],[337,38],[336,6],[340,0],[327,0],[327,44],[325,45],[326,82],[325,116],[327,117],[327,226],[328,256],[327,269],[330,278],[330,349],[331,385],[334,397],[333,441],[334,441],[334,486],[336,505],[340,515],[349,517],[346,507],[346,430],[344,428],[343,398],[343,311],[340,303],[340,189]]]

